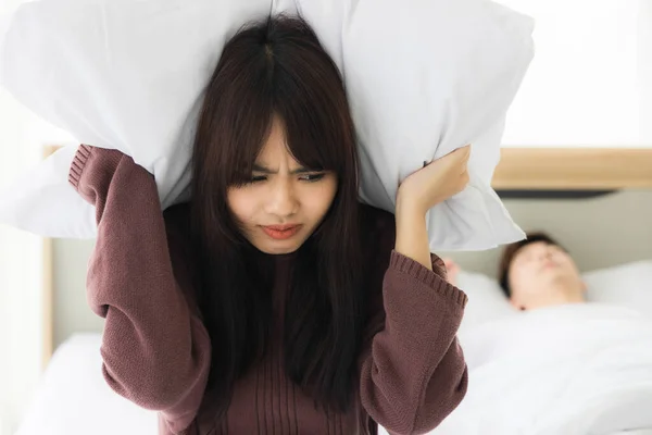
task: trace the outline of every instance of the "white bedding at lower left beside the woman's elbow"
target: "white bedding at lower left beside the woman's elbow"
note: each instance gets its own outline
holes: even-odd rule
[[[15,435],[156,435],[156,413],[115,394],[102,376],[99,334],[59,347]]]

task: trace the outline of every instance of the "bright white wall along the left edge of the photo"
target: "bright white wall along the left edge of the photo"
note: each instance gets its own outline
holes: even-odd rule
[[[22,0],[0,0],[0,20]],[[0,89],[0,190],[62,138]],[[0,225],[0,435],[17,426],[41,374],[42,240]]]

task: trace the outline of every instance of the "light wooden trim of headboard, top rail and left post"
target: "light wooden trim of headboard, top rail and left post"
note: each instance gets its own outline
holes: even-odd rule
[[[50,156],[58,147],[47,147]],[[503,148],[497,190],[652,190],[652,147]],[[54,244],[43,240],[43,366],[54,350]],[[464,258],[462,256],[461,258]]]

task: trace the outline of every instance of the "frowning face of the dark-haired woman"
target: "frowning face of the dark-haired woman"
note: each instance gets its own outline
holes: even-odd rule
[[[299,249],[314,233],[336,192],[336,174],[302,167],[289,153],[283,123],[275,119],[251,183],[229,188],[227,200],[254,247],[283,254]]]

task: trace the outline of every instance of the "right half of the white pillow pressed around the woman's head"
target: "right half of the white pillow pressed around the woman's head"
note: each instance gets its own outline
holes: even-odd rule
[[[473,144],[469,186],[429,213],[430,249],[523,239],[490,183],[505,113],[532,58],[531,20],[482,0],[301,0],[299,10],[341,55],[362,198],[392,212],[398,181]],[[343,23],[341,34],[330,20]]]

